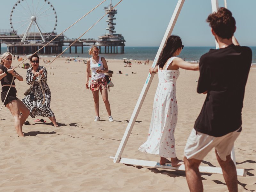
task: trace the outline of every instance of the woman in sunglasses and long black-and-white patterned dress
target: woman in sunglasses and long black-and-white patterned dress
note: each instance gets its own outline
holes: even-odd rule
[[[39,66],[39,57],[34,54],[30,57],[31,68],[28,68],[26,80],[30,85],[30,94],[28,94],[22,102],[27,106],[30,111],[30,116],[35,118],[36,115],[48,117],[55,127],[59,125],[56,122],[54,113],[50,108],[51,104],[51,91],[47,84],[47,71],[44,67]],[[43,70],[44,69],[44,70]],[[40,82],[38,79],[41,78]],[[43,90],[42,90],[42,88]],[[31,93],[34,95],[31,96]]]

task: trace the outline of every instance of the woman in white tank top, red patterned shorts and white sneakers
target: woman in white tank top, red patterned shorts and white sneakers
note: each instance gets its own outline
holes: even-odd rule
[[[90,89],[92,90],[92,95],[94,99],[94,108],[96,116],[94,121],[100,121],[100,106],[99,106],[99,90],[102,95],[102,99],[105,103],[108,120],[113,121],[111,116],[110,104],[108,101],[108,84],[104,73],[108,72],[107,61],[104,57],[99,56],[99,49],[96,46],[92,46],[89,49],[89,55],[92,55],[90,59],[87,60],[86,66],[86,89],[89,89],[89,76],[92,70],[92,79],[90,84]]]

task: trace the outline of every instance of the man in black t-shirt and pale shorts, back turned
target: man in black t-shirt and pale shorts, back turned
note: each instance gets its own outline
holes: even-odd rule
[[[234,142],[242,131],[241,112],[252,50],[234,38],[236,21],[221,7],[208,16],[220,49],[211,49],[199,62],[197,92],[207,94],[186,147],[184,163],[190,191],[203,191],[198,170],[203,158],[215,148],[229,191],[237,191],[236,166],[231,159]]]

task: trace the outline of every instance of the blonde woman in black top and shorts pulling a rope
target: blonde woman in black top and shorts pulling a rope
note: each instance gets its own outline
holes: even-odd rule
[[[16,97],[17,90],[15,88],[14,80],[18,79],[19,81],[23,81],[23,78],[11,68],[11,65],[12,65],[12,54],[10,52],[3,53],[1,57],[1,64],[0,64],[0,80],[2,85],[1,100],[4,103],[4,106],[11,111],[11,114],[14,117],[14,126],[16,129],[16,132],[20,137],[24,137],[22,132],[22,126],[26,121],[26,119],[28,118],[29,110],[21,102],[21,100],[19,100]],[[14,77],[14,80],[12,82],[13,77]],[[11,83],[12,83],[12,86],[11,86]],[[11,86],[11,89],[7,95],[7,92],[10,86]],[[22,115],[20,115],[20,113],[22,113]]]

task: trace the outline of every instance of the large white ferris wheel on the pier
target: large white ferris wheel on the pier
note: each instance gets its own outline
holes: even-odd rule
[[[12,7],[10,24],[21,42],[45,42],[56,30],[57,15],[48,0],[19,0]]]

